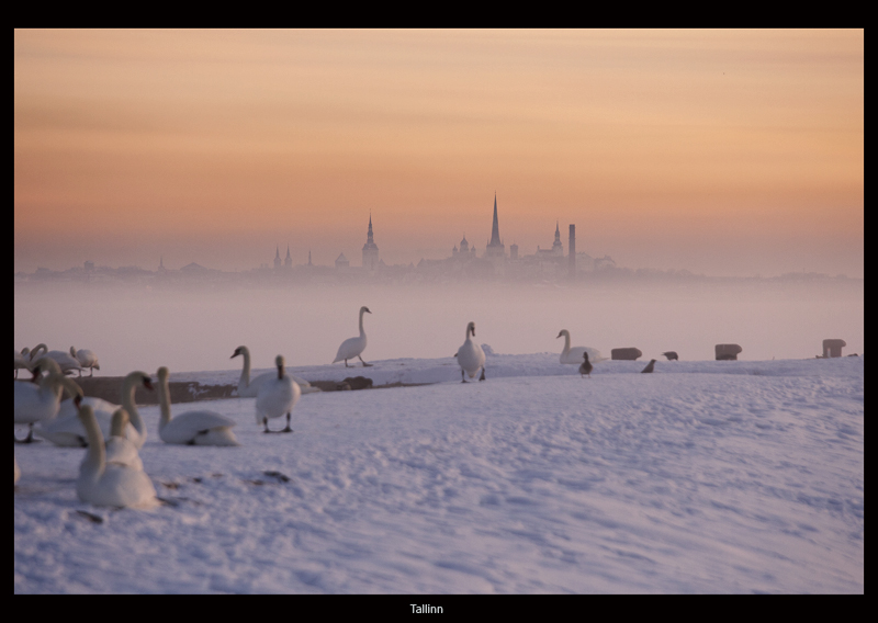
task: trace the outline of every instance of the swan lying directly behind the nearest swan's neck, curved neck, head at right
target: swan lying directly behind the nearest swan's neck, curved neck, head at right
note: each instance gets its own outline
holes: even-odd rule
[[[134,403],[134,393],[138,385],[143,385],[149,390],[153,389],[153,382],[145,372],[132,372],[125,377],[122,382],[122,407],[128,412],[131,420],[125,428],[126,437],[137,449],[140,449],[146,441],[146,424]],[[120,406],[92,397],[82,398],[82,403],[91,407],[98,426],[101,428],[101,434],[109,437],[113,414]],[[34,432],[37,437],[46,439],[55,445],[83,448],[89,443],[87,431],[78,416],[78,409],[67,400],[61,403],[55,420],[41,422]]]

